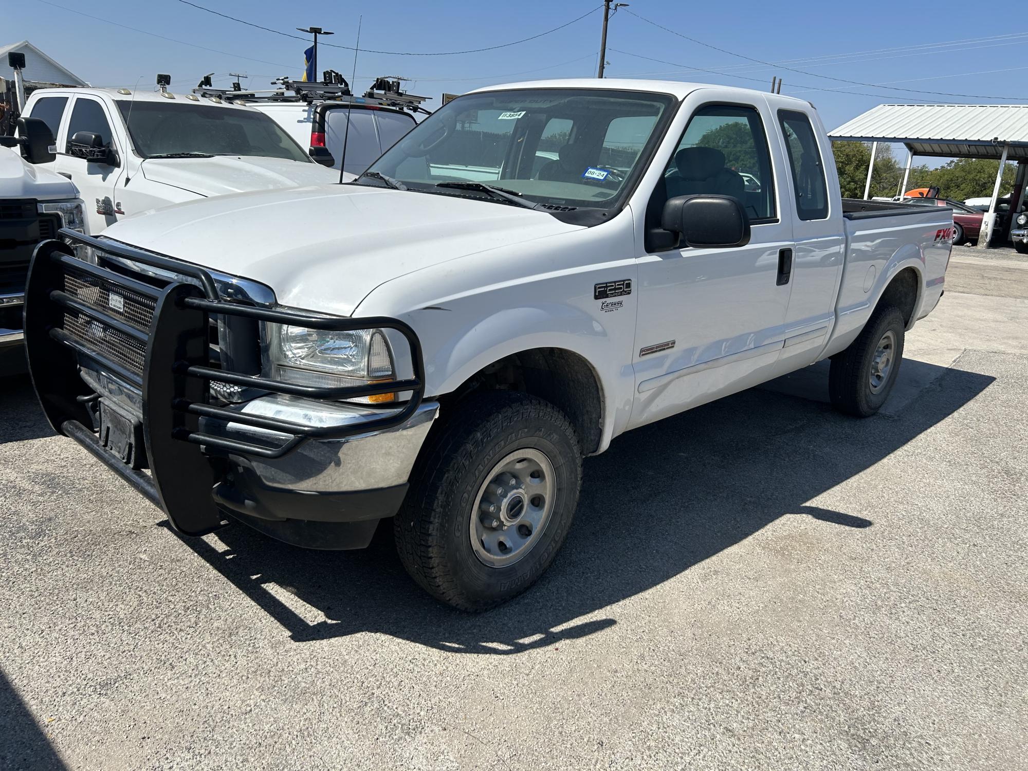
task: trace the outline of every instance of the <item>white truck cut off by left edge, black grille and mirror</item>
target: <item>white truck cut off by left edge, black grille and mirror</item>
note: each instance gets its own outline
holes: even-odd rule
[[[69,228],[88,234],[82,199],[68,179],[41,164],[53,159],[53,137],[32,118],[21,137],[0,137],[0,377],[25,371],[22,305],[32,252]]]

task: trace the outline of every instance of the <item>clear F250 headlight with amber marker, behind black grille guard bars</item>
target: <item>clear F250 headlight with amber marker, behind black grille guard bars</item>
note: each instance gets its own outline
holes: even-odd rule
[[[395,379],[393,355],[380,329],[329,332],[268,325],[271,377],[306,386],[357,386]],[[360,401],[392,402],[395,394]]]

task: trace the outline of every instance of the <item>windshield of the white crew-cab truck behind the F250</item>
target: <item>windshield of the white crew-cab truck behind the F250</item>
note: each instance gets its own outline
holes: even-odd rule
[[[188,155],[260,155],[310,158],[267,115],[256,110],[174,102],[118,100],[136,151],[144,158]]]

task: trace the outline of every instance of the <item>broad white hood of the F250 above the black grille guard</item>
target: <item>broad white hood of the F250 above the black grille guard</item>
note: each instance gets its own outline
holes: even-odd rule
[[[578,229],[488,200],[331,185],[176,204],[104,236],[260,282],[284,305],[351,316],[392,279]]]

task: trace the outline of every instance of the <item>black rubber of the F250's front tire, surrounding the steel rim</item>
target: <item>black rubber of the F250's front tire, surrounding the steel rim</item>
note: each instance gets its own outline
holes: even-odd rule
[[[578,505],[582,452],[567,417],[526,394],[472,397],[443,419],[423,448],[395,517],[397,550],[407,572],[430,594],[464,611],[484,611],[520,594],[550,566]],[[553,500],[547,502],[542,534],[523,556],[499,566],[486,564],[473,548],[471,518],[481,513],[480,492],[490,477],[512,456],[516,463],[518,450],[548,462],[543,467],[552,471],[547,490]]]

